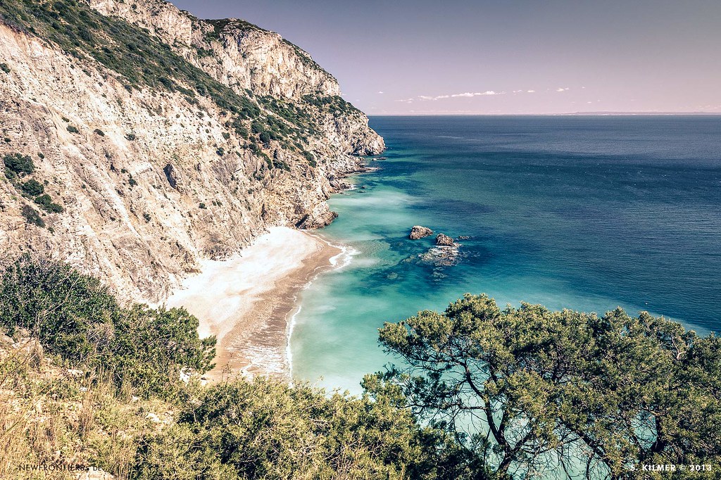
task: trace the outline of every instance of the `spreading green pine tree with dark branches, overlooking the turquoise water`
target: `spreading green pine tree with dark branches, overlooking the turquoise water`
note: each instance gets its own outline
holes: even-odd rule
[[[497,474],[560,462],[590,478],[645,478],[644,464],[721,462],[714,334],[646,312],[500,310],[467,294],[443,313],[386,324],[380,341],[404,362],[367,380],[400,388]]]

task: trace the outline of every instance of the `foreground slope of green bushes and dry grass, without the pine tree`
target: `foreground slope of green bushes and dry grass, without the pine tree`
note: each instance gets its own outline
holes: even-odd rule
[[[73,372],[0,355],[0,382],[12,385],[0,388],[0,404],[17,406],[0,409],[0,422],[25,425],[4,437],[0,474],[56,463],[61,451],[61,461],[119,480],[480,478],[455,440],[420,426],[392,389],[353,397],[272,379],[183,383],[180,370],[202,373],[214,356],[215,339],[198,338],[194,316],[121,306],[62,263],[25,256],[4,265],[0,327],[39,339],[54,365]]]

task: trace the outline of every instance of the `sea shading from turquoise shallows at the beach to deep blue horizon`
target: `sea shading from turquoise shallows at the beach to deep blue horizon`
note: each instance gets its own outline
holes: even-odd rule
[[[721,117],[373,117],[388,159],[335,195],[320,231],[345,267],[301,295],[293,375],[358,393],[392,359],[384,321],[465,292],[602,313],[618,305],[721,325]],[[432,237],[454,267],[416,262]]]

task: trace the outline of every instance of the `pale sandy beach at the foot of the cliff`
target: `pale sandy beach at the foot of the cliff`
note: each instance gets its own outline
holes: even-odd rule
[[[203,262],[166,305],[184,306],[200,320],[200,337],[218,338],[216,368],[206,377],[288,375],[288,317],[297,295],[340,253],[317,236],[275,227],[239,257]]]

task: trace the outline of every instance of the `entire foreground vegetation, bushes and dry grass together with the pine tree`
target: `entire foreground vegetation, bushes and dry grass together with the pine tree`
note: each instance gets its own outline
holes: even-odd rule
[[[0,345],[0,422],[21,426],[0,436],[0,475],[58,451],[118,480],[641,479],[642,464],[721,461],[720,339],[645,313],[466,295],[386,324],[381,344],[404,362],[367,375],[360,397],[272,379],[186,385],[180,370],[213,359],[195,317],[121,306],[47,260],[4,266],[0,326],[40,340],[20,342],[22,358]],[[81,375],[45,366],[43,350]]]

